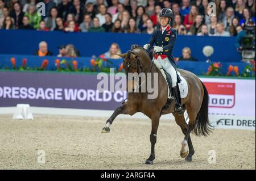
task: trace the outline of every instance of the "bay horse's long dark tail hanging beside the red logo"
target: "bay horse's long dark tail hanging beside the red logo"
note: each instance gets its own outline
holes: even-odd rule
[[[201,82],[201,81],[200,81]],[[204,88],[204,98],[200,108],[199,113],[197,114],[197,123],[193,132],[197,136],[208,136],[212,132],[212,125],[210,125],[209,117],[208,117],[208,102],[209,102],[209,94],[203,82],[201,82]]]

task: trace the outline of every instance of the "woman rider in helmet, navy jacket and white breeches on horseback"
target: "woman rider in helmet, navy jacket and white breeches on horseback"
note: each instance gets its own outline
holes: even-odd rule
[[[162,65],[163,69],[170,74],[172,78],[172,94],[175,98],[175,112],[182,114],[180,92],[177,88],[177,71],[174,57],[172,56],[172,48],[177,38],[177,31],[170,26],[173,20],[173,12],[171,9],[164,8],[160,11],[160,28],[156,30],[148,44],[144,45],[144,49],[150,50],[154,48],[155,60]],[[153,46],[155,44],[155,46]]]

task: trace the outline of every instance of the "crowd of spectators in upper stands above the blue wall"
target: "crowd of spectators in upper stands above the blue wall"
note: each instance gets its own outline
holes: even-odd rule
[[[216,15],[208,14],[210,2]],[[0,0],[0,29],[151,34],[163,7],[174,12],[179,35],[237,36],[249,20],[255,23],[255,0]]]

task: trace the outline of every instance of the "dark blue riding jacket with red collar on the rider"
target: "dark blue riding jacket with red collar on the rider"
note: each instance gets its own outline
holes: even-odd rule
[[[158,47],[163,47],[163,52],[159,52],[157,54],[166,55],[170,62],[176,66],[174,57],[172,56],[172,49],[174,47],[175,41],[177,39],[177,31],[170,26],[166,28],[166,31],[162,34],[162,28],[159,30],[155,30],[151,36],[151,39],[148,44],[150,44],[150,48],[154,46],[154,44]]]

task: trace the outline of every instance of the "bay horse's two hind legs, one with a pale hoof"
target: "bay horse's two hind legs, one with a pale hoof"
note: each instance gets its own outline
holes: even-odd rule
[[[195,153],[195,150],[193,148],[192,141],[189,135],[192,131],[192,128],[188,126],[183,115],[180,116],[180,115],[174,114],[174,117],[177,125],[180,126],[181,131],[183,132],[183,134],[185,134],[185,138],[181,143],[180,157],[185,158],[187,156],[185,160],[192,161],[192,155]],[[188,145],[188,150],[187,150],[187,145]]]

